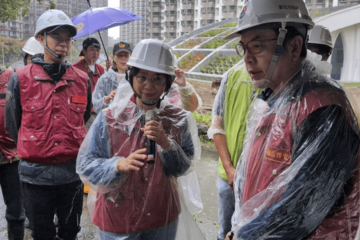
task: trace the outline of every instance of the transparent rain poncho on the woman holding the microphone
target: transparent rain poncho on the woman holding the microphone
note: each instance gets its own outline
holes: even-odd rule
[[[201,146],[193,115],[162,101],[155,111],[169,149],[157,146],[153,165],[143,160],[139,171],[118,172],[119,160],[146,148],[146,110],[134,103],[130,84],[122,84],[117,95],[119,101],[98,114],[77,158],[77,173],[95,191],[88,196],[94,224],[115,234],[111,239],[204,239],[191,216],[203,207],[194,171]]]

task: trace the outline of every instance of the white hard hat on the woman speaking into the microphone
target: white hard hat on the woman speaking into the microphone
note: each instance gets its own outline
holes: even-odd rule
[[[136,44],[127,64],[152,72],[175,74],[172,49],[158,39],[143,39]]]

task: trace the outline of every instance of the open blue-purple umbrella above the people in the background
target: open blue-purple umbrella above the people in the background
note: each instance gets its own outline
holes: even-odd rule
[[[71,20],[77,26],[76,38],[140,19],[141,16],[124,8],[103,7],[90,8]]]

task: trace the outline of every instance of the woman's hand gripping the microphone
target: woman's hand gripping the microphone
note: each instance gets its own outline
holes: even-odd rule
[[[170,141],[167,139],[164,128],[159,122],[155,120],[146,122],[146,125],[141,130],[148,139],[155,141],[162,149],[167,149],[170,146]]]

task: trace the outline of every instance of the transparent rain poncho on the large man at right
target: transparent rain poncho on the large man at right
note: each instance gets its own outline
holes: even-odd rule
[[[235,239],[354,239],[359,125],[316,59],[250,106],[234,179]]]

